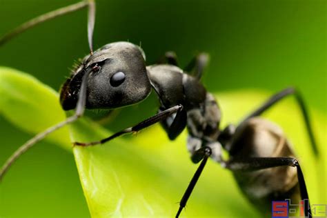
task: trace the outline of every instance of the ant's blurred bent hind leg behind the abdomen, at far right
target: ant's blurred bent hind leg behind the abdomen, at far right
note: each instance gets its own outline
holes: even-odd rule
[[[295,95],[295,99],[297,100],[297,103],[299,104],[299,108],[301,109],[302,115],[304,117],[304,122],[306,123],[306,130],[310,138],[313,152],[315,153],[316,156],[318,156],[319,152],[317,148],[317,143],[313,135],[313,128],[310,124],[310,118],[308,115],[308,110],[306,109],[306,104],[304,103],[304,99],[302,98],[301,93],[295,88],[286,88],[284,90],[281,90],[281,92],[277,92],[277,94],[270,97],[270,99],[264,102],[259,108],[257,108],[257,110],[252,112],[250,115],[248,115],[248,117],[246,117],[243,121],[241,121],[239,126],[245,123],[248,119],[261,115],[263,112],[268,110],[271,106],[273,106],[275,103],[279,102],[281,99],[284,99],[284,97],[287,97],[288,95]]]

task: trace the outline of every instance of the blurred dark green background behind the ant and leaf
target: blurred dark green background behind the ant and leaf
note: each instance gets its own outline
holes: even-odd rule
[[[0,35],[75,2],[0,0]],[[97,1],[94,44],[141,43],[148,64],[174,50],[185,66],[206,51],[211,58],[203,80],[208,90],[276,92],[296,86],[310,109],[326,115],[326,8],[326,1],[102,0]],[[29,72],[59,90],[72,63],[88,54],[86,10],[43,23],[0,50],[1,66]],[[124,108],[108,128],[139,121],[156,111],[155,104],[152,97]],[[3,163],[30,135],[3,117],[0,129]],[[46,142],[15,164],[0,193],[0,217],[89,217],[72,154]]]

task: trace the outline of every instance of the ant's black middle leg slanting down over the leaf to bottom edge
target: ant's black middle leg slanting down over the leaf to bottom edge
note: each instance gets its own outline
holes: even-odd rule
[[[188,188],[186,188],[186,191],[184,192],[183,197],[181,197],[181,201],[179,202],[179,209],[176,214],[176,218],[179,217],[181,214],[181,210],[185,208],[186,203],[188,201],[188,198],[190,197],[190,194],[192,193],[192,190],[195,187],[195,184],[197,184],[197,180],[199,179],[201,172],[204,170],[204,166],[206,166],[206,162],[208,161],[208,158],[210,157],[212,153],[212,150],[210,147],[202,147],[199,148],[199,150],[196,150],[194,154],[192,155],[191,159],[192,162],[197,164],[199,161],[201,161],[201,164],[197,168],[197,171],[195,172],[195,175],[192,177],[190,184],[188,184]]]

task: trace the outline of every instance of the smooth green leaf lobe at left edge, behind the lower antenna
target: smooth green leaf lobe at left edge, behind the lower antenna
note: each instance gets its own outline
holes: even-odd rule
[[[19,70],[0,67],[0,96],[1,115],[32,135],[66,119],[58,93]],[[71,150],[68,128],[52,133],[47,140]]]

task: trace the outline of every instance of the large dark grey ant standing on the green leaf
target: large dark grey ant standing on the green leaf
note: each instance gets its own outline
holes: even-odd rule
[[[200,164],[181,198],[176,217],[179,217],[185,208],[209,157],[233,172],[244,195],[263,212],[270,211],[272,200],[287,198],[291,201],[308,201],[304,175],[290,143],[278,126],[259,117],[281,99],[294,95],[304,117],[313,151],[318,155],[304,100],[294,88],[286,88],[273,95],[236,126],[230,124],[219,128],[219,105],[200,81],[208,63],[208,54],[198,54],[182,70],[177,65],[173,52],[166,53],[166,63],[146,66],[143,50],[129,42],[108,43],[98,50],[93,50],[95,1],[92,0],[81,1],[32,19],[1,38],[0,45],[41,22],[86,7],[90,54],[83,58],[60,90],[63,110],[75,109],[75,115],[23,144],[1,168],[0,181],[24,152],[51,132],[82,117],[85,109],[130,106],[143,101],[150,95],[151,90],[154,90],[160,103],[157,115],[105,139],[74,142],[74,146],[96,146],[121,135],[139,132],[158,122],[170,140],[176,139],[187,128],[187,148],[191,160],[194,164]],[[229,159],[223,157],[222,150],[228,152]],[[288,168],[279,168],[280,166]],[[312,217],[308,204],[304,210],[308,217]]]

